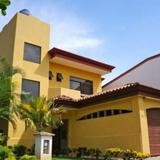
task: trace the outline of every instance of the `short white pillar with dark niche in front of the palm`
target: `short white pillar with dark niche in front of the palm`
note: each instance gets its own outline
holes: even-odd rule
[[[48,132],[35,134],[35,155],[40,160],[52,160],[52,136]]]

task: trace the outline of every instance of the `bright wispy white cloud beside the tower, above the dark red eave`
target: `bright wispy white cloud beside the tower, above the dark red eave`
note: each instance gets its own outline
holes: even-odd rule
[[[84,21],[73,16],[62,21],[51,25],[53,28],[51,38],[54,46],[76,51],[97,48],[102,44],[102,40],[94,36],[93,29]]]

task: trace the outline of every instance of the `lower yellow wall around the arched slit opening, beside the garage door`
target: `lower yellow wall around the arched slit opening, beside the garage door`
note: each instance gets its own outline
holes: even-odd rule
[[[69,146],[98,147],[101,150],[120,147],[142,151],[137,103],[138,98],[132,97],[70,111]],[[83,115],[106,109],[129,109],[133,112],[77,121]]]

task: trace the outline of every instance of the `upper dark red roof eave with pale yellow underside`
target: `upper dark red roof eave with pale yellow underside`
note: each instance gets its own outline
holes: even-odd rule
[[[114,66],[79,56],[58,48],[53,48],[48,53],[50,55],[50,62],[52,63],[65,65],[91,73],[105,75],[115,68]]]

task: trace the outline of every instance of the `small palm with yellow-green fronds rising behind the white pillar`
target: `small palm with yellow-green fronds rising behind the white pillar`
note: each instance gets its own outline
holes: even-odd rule
[[[22,103],[19,108],[20,118],[25,121],[26,127],[37,132],[48,127],[56,127],[62,123],[61,113],[64,110],[46,97],[34,97],[28,103]]]

